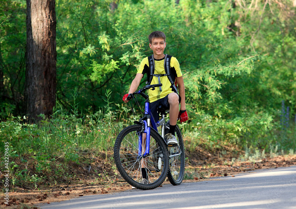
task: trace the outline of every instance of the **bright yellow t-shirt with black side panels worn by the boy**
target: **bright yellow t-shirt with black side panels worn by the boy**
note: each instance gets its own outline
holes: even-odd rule
[[[164,58],[162,58],[160,60],[154,59],[154,61],[155,61],[154,74],[165,74]],[[172,78],[183,76],[181,69],[180,69],[180,64],[175,57],[171,57],[171,59],[170,59],[170,72],[172,74]],[[141,73],[143,75],[145,73],[150,74],[148,57],[145,57],[141,61],[141,64],[140,64],[137,74],[138,73]],[[162,91],[160,91],[159,87],[156,87],[155,90],[153,90],[153,91],[149,89],[148,96],[149,96],[150,102],[155,102],[156,100],[162,99],[166,95],[174,92],[173,89],[171,88],[172,84],[170,83],[168,76],[161,76],[160,83],[163,84],[161,86]],[[158,84],[158,78],[156,76],[153,76],[151,84]]]

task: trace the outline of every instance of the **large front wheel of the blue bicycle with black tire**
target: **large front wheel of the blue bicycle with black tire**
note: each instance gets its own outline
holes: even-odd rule
[[[168,173],[168,149],[161,136],[151,128],[150,155],[138,159],[138,140],[139,134],[142,134],[141,130],[141,125],[131,125],[119,133],[114,145],[114,160],[126,182],[137,189],[150,190],[159,187],[165,180]],[[148,184],[143,183],[141,164],[146,168]]]

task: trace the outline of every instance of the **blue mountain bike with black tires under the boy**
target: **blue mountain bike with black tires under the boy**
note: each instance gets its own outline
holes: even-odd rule
[[[114,145],[114,160],[120,175],[126,182],[141,190],[159,187],[165,177],[168,177],[171,184],[180,185],[184,177],[185,154],[181,131],[177,125],[178,144],[168,145],[165,135],[169,131],[169,120],[165,123],[165,116],[169,111],[160,107],[162,118],[155,122],[148,95],[144,93],[146,89],[154,90],[159,86],[162,84],[144,86],[127,97],[128,100],[134,98],[138,107],[137,95],[144,97],[144,117],[134,121],[135,125],[124,128]],[[161,135],[157,130],[159,126]]]

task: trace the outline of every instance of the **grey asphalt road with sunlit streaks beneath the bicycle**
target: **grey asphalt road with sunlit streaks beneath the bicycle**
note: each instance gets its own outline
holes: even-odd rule
[[[295,208],[296,166],[255,170],[235,177],[127,190],[39,205],[48,209],[94,208]]]

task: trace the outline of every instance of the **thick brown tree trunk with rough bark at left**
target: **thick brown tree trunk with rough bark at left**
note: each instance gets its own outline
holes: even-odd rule
[[[55,0],[27,0],[25,112],[30,122],[50,116],[56,94]]]

